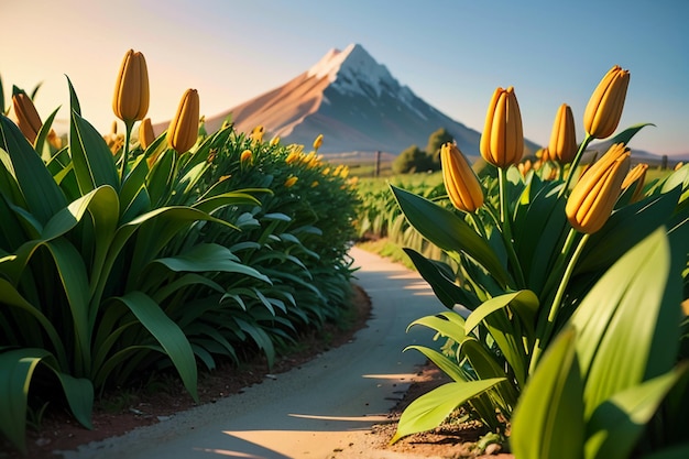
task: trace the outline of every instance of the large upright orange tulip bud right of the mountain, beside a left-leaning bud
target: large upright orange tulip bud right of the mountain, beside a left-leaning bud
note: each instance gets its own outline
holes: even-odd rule
[[[522,112],[514,88],[497,88],[485,113],[481,134],[481,156],[494,166],[516,164],[524,153]]]

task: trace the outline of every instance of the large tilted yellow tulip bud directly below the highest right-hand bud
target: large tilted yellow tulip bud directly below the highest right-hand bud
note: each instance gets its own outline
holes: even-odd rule
[[[578,231],[600,230],[622,193],[622,182],[630,170],[630,149],[615,143],[575,185],[567,199],[565,212]]]

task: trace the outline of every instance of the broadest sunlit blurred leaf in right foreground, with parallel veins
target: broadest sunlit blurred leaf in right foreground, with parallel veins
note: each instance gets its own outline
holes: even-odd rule
[[[667,373],[679,343],[681,270],[659,228],[622,256],[572,315],[586,415],[617,392]]]

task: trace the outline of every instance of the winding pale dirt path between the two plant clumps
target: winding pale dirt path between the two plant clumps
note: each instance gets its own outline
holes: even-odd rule
[[[64,458],[418,457],[373,452],[370,448],[380,445],[368,440],[374,424],[389,420],[390,409],[424,363],[418,352],[402,350],[411,343],[429,343],[430,337],[414,330],[405,334],[407,325],[441,306],[416,273],[359,249],[352,255],[361,266],[357,284],[372,303],[368,327],[352,342],[265,378],[242,394],[66,451]]]

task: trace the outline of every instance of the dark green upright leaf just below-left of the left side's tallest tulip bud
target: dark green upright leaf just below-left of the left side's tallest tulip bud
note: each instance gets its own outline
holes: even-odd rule
[[[74,110],[69,123],[69,152],[74,172],[83,194],[110,185],[120,188],[112,152],[102,135]]]

